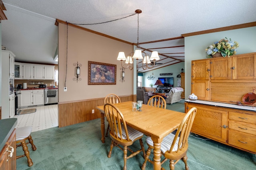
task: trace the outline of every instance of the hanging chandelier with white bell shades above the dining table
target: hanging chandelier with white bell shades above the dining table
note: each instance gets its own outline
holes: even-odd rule
[[[140,50],[140,44],[139,44],[139,14],[142,13],[142,10],[136,10],[135,11],[138,14],[138,36],[137,36],[137,47],[136,50],[129,55],[127,55],[127,58],[124,54],[124,52],[119,52],[117,60],[121,61],[122,68],[129,68],[130,70],[133,69],[133,59],[137,60],[137,68],[138,68],[138,60],[142,59],[142,68],[143,70],[146,70],[147,68],[153,68],[155,66],[155,61],[159,60],[158,52],[152,51],[151,57],[149,58],[149,55],[142,52]],[[143,54],[143,55],[142,55]],[[153,62],[151,62],[151,61]],[[123,61],[125,61],[123,63]]]

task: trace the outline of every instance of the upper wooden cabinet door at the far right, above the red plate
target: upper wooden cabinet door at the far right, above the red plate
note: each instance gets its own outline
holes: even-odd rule
[[[232,57],[233,79],[256,78],[256,54]]]

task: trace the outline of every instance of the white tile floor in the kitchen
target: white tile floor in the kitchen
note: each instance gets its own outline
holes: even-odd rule
[[[14,118],[18,119],[16,128],[32,126],[32,132],[34,132],[58,126],[58,104],[23,109],[32,108],[36,108],[35,113],[14,115]]]

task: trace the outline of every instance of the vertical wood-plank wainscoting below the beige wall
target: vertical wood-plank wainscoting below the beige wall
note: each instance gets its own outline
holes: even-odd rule
[[[136,101],[136,95],[119,97],[121,102]],[[58,104],[59,127],[100,118],[100,111],[96,109],[96,107],[104,105],[104,99],[105,98],[97,98],[82,101],[60,102]],[[92,113],[92,109],[94,109],[94,113]]]

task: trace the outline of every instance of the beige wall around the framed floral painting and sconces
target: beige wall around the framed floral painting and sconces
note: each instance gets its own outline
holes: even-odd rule
[[[103,98],[109,93],[118,96],[133,94],[133,73],[125,70],[125,82],[120,82],[121,62],[117,61],[119,51],[132,52],[132,45],[101,35],[68,26],[68,59],[66,76],[66,30],[65,24],[58,25],[58,70],[59,102],[72,102]],[[80,63],[81,81],[74,81],[74,63]],[[116,64],[116,85],[88,85],[88,61]],[[65,76],[67,92],[64,92]]]

